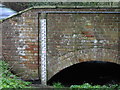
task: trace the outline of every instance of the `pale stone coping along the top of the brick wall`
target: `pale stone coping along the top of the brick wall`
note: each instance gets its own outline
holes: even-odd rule
[[[4,22],[5,20],[12,18],[14,16],[20,15],[24,12],[27,12],[32,9],[119,9],[119,6],[34,6],[22,10],[14,15],[11,15],[5,19],[0,20],[0,23]]]

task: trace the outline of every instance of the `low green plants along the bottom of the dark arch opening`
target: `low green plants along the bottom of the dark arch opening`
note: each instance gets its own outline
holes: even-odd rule
[[[58,83],[53,83],[53,87],[54,88],[65,88],[65,86],[63,86],[59,82]],[[109,85],[109,86],[107,86],[107,85],[103,85],[103,86],[101,86],[101,85],[94,85],[94,86],[92,86],[89,83],[84,83],[82,85],[71,85],[70,88],[71,89],[74,89],[74,88],[85,88],[85,89],[94,88],[95,90],[96,89],[102,89],[102,90],[114,90],[114,89],[116,89],[116,90],[119,90],[120,89],[120,85],[115,84],[115,85]]]

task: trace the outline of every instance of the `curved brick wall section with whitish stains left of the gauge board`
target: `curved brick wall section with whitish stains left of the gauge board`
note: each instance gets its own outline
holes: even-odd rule
[[[22,78],[38,78],[38,16],[28,11],[3,22],[3,56]]]

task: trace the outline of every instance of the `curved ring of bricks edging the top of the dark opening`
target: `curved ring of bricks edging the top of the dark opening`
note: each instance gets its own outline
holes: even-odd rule
[[[77,63],[87,61],[105,61],[120,64],[118,51],[104,48],[91,48],[69,52],[48,64],[48,80],[61,70]],[[57,63],[56,63],[57,62]]]

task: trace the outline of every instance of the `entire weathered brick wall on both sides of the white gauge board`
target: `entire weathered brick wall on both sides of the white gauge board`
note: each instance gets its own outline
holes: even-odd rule
[[[118,11],[118,9],[33,8],[2,23],[3,58],[22,79],[40,77],[39,11]],[[108,61],[120,64],[118,14],[48,14],[48,79],[73,64]],[[39,41],[40,42],[40,41]]]

